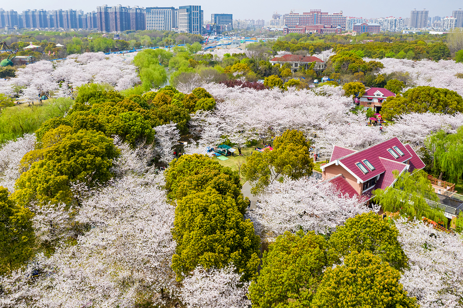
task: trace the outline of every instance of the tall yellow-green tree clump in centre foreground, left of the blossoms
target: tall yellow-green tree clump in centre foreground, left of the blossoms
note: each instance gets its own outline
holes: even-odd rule
[[[259,237],[244,220],[247,202],[236,171],[203,155],[184,155],[166,171],[168,197],[175,200],[172,268],[181,280],[197,265],[230,262],[249,280],[259,265]]]

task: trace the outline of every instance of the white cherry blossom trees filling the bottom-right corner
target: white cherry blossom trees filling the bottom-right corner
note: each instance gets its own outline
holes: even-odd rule
[[[400,282],[422,308],[463,307],[463,242],[419,221],[398,219],[399,242],[408,257]]]

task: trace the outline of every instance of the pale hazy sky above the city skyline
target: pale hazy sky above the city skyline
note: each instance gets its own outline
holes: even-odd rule
[[[192,0],[191,2],[184,0],[172,1],[148,1],[148,0],[119,0],[118,2],[106,2],[110,0],[15,0],[2,1],[0,5],[4,10],[15,10],[21,13],[27,9],[74,9],[83,10],[84,12],[95,11],[97,6],[101,5],[122,5],[122,6],[139,6],[139,7],[154,7],[154,6],[173,6],[175,8],[181,5],[201,5],[204,10],[204,19],[210,20],[211,13],[232,13],[234,19],[263,19],[269,21],[273,12],[277,11],[280,14],[287,14],[290,10],[296,13],[308,12],[310,9],[321,9],[323,12],[339,12],[343,11],[345,16],[355,16],[364,18],[373,17],[409,17],[410,11],[429,10],[429,16],[451,16],[452,11],[463,8],[463,1],[459,0],[441,0],[441,1],[412,1],[412,0],[388,0],[388,1],[366,1],[366,0],[330,0],[318,4],[310,4],[306,1],[298,0]],[[114,0],[113,0],[114,1]],[[116,0],[117,1],[117,0]]]

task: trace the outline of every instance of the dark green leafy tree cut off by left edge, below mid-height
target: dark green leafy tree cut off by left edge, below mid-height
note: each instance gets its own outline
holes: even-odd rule
[[[0,274],[21,266],[33,255],[35,234],[33,213],[8,198],[8,189],[0,186]]]

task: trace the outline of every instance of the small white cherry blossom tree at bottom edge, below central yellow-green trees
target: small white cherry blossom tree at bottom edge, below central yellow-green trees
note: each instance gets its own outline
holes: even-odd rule
[[[247,299],[249,282],[241,282],[233,266],[204,269],[201,266],[183,280],[180,298],[188,308],[241,308]]]

